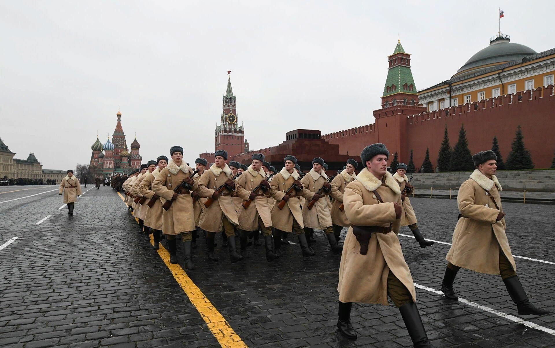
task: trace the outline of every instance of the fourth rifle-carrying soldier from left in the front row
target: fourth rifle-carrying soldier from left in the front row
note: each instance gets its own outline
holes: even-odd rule
[[[316,195],[306,190],[299,181],[299,173],[295,171],[297,158],[287,155],[284,158],[285,167],[274,176],[270,183],[271,196],[276,200],[274,208],[271,210],[271,221],[274,226],[274,254],[281,256],[281,234],[295,231],[299,238],[299,245],[302,257],[314,256],[314,250],[309,248],[302,221],[302,212],[299,197],[312,199]],[[294,186],[294,190],[289,192],[289,188]],[[285,205],[280,209],[279,204],[285,201]]]

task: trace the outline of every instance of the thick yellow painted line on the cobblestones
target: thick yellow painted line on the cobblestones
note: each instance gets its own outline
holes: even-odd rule
[[[125,198],[118,192],[122,201]],[[135,218],[135,220],[138,219]],[[154,239],[150,237],[150,244],[154,245]],[[162,261],[166,264],[166,267],[170,270],[176,282],[181,286],[181,289],[188,296],[191,303],[195,306],[196,310],[199,311],[200,316],[204,319],[206,325],[212,331],[216,340],[220,342],[220,345],[225,348],[244,348],[248,347],[241,337],[235,333],[233,328],[224,319],[224,316],[214,307],[208,298],[200,291],[199,287],[193,283],[193,280],[185,273],[183,268],[179,264],[170,263],[170,254],[164,249],[164,245],[160,243],[162,248],[158,249],[158,255]]]

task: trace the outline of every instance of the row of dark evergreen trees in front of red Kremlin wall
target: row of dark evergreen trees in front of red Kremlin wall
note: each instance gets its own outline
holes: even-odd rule
[[[530,152],[524,146],[524,136],[522,135],[521,126],[518,126],[516,135],[511,144],[511,152],[507,157],[507,163],[503,162],[503,157],[501,156],[501,151],[499,151],[499,144],[497,143],[497,136],[493,137],[492,151],[497,155],[497,169],[498,170],[524,170],[532,169],[534,163],[532,162],[532,157]],[[398,164],[397,152],[393,154],[393,160],[391,162],[391,171],[395,171]],[[430,161],[430,149],[426,149],[426,156],[422,162],[424,168],[424,173],[433,173],[432,162]],[[443,141],[441,142],[440,151],[437,156],[437,168],[438,172],[460,172],[460,171],[472,171],[475,169],[472,163],[472,153],[468,149],[468,140],[466,139],[465,125],[461,126],[458,132],[458,141],[455,147],[451,147],[449,142],[449,135],[447,133],[447,125],[445,126],[445,134],[443,135]],[[551,164],[551,168],[555,168],[555,157]],[[415,173],[416,167],[412,160],[412,150],[411,157],[407,164],[407,173]]]

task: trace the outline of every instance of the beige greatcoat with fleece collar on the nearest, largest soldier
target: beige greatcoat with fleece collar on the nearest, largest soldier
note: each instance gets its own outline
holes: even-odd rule
[[[391,224],[392,232],[372,233],[368,252],[362,255],[352,227],[349,228],[339,266],[339,300],[344,303],[387,305],[387,275],[391,271],[406,286],[412,300],[416,302],[411,271],[403,258],[401,244],[397,239],[401,220],[395,219],[393,202],[401,203],[399,184],[386,172],[385,185],[382,186],[382,182],[367,168],[364,168],[356,179],[347,185],[343,196],[345,213],[351,224],[384,227]],[[379,193],[384,200],[383,204],[374,198],[372,191]]]

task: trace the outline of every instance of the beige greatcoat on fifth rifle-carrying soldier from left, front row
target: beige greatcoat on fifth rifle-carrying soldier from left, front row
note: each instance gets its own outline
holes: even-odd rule
[[[320,173],[321,175],[314,169],[311,169],[310,172],[301,179],[302,186],[312,192],[312,196],[314,196],[314,193],[318,192],[328,180],[324,170],[321,170]],[[330,212],[331,203],[328,197],[329,193],[324,192],[325,191],[322,191],[320,193],[320,198],[316,201],[314,206],[312,206],[312,209],[308,207],[312,197],[310,197],[310,199],[307,198],[303,204],[302,222],[305,224],[305,227],[325,229],[332,225]]]

